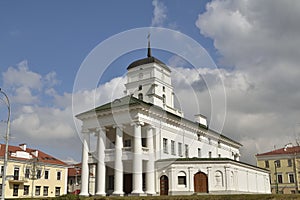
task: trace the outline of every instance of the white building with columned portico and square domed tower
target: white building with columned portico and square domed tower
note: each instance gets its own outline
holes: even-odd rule
[[[80,195],[89,195],[89,165],[97,166],[96,195],[270,193],[268,171],[239,162],[241,144],[210,130],[204,116],[190,121],[174,107],[171,70],[150,47],[127,70],[128,96],[76,116]]]

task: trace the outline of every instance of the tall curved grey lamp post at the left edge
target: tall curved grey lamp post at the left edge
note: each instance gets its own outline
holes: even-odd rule
[[[8,159],[8,140],[9,140],[9,128],[10,128],[10,103],[8,96],[3,92],[0,88],[0,93],[2,93],[5,96],[6,99],[6,106],[8,109],[7,114],[7,127],[6,127],[6,135],[5,135],[5,154],[4,154],[4,163],[3,163],[3,174],[2,174],[2,194],[1,194],[1,200],[5,199],[5,182],[6,182],[6,168],[7,168],[7,159]]]

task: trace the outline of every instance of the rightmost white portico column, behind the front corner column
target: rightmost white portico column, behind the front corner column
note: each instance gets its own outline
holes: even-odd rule
[[[149,160],[146,164],[146,193],[154,195],[155,192],[155,174],[154,174],[154,147],[153,147],[153,127],[147,129],[147,148],[149,149]]]

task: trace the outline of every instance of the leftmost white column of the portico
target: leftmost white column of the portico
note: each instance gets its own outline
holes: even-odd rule
[[[81,158],[81,196],[89,196],[89,131],[82,130],[82,158]]]

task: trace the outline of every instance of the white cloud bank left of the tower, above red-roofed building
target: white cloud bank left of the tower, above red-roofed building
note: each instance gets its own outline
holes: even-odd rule
[[[74,114],[79,112],[73,113],[71,93],[59,94],[56,91],[60,82],[56,73],[38,74],[31,71],[24,61],[16,67],[9,67],[2,75],[13,107],[12,142],[25,142],[59,158],[79,161],[81,141],[73,121]],[[74,94],[80,102],[78,111],[123,96],[125,81],[125,77],[117,77],[94,90]]]

